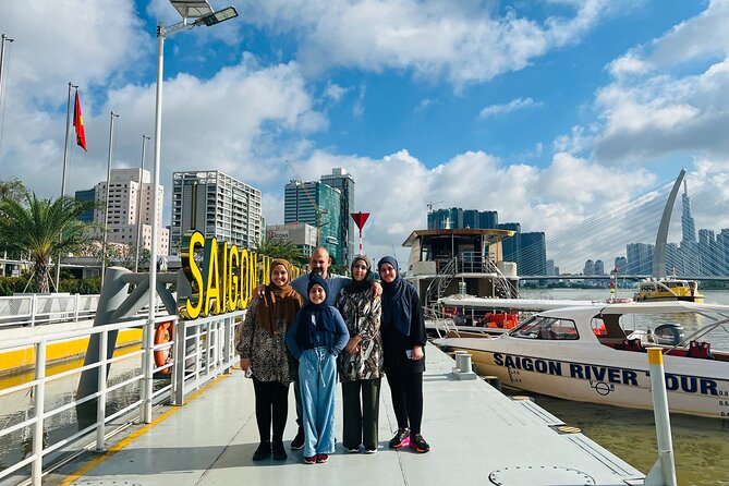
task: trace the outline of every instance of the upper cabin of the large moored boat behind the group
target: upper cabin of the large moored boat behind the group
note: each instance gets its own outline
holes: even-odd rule
[[[403,242],[410,247],[406,279],[425,305],[455,293],[515,297],[517,264],[503,262],[501,242],[515,231],[496,229],[416,230]]]

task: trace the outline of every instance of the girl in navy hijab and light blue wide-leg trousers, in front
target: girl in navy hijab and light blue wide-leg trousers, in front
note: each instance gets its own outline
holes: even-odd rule
[[[299,360],[304,462],[327,462],[335,451],[337,355],[350,339],[337,307],[327,305],[329,284],[320,276],[308,281],[308,304],[296,315],[285,342]]]

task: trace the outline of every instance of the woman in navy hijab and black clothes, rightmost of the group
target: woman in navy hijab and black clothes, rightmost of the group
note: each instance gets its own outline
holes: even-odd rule
[[[414,451],[427,452],[430,446],[421,435],[427,341],[423,307],[415,287],[400,277],[394,257],[382,257],[377,269],[382,283],[384,370],[398,420],[398,432],[390,440],[390,447],[399,448],[409,441]]]

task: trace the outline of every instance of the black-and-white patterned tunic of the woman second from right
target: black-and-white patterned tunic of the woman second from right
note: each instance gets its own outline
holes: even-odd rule
[[[339,354],[341,381],[357,381],[379,378],[382,369],[382,341],[379,335],[380,299],[373,297],[372,289],[362,292],[340,292],[337,308],[341,313],[350,338],[362,337],[360,353]]]

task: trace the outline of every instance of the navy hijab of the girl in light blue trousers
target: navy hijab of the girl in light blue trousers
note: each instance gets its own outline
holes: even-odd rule
[[[329,293],[329,284],[318,275],[308,279],[306,292],[308,293],[315,284],[321,285],[325,295]],[[312,326],[312,323],[316,323],[316,325]],[[317,345],[317,342],[319,345],[329,349],[333,342],[337,328],[335,315],[331,307],[327,305],[326,296],[320,304],[314,304],[309,300],[308,304],[299,311],[296,326],[296,343],[302,350],[311,350]],[[319,335],[318,340],[316,339],[317,333]]]

